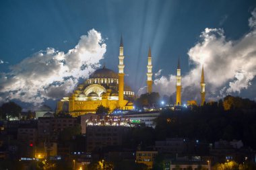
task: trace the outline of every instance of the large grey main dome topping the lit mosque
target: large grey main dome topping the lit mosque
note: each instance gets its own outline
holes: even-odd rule
[[[118,79],[117,73],[110,69],[102,68],[94,71],[92,75],[90,75],[89,79],[98,79],[98,78],[109,78],[109,79]]]

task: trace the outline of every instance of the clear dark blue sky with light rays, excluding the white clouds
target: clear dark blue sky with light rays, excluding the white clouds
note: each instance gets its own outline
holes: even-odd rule
[[[137,91],[146,85],[148,47],[153,71],[189,72],[188,50],[205,28],[223,28],[227,40],[249,32],[248,19],[256,1],[0,1],[0,72],[8,72],[34,52],[53,47],[67,52],[94,28],[102,34],[106,54],[100,63],[117,71],[121,33],[125,49],[125,79]]]

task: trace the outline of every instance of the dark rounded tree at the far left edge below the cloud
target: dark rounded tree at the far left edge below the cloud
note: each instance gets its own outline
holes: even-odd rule
[[[14,103],[13,101],[3,103],[3,105],[1,106],[1,113],[2,113],[1,116],[3,119],[6,119],[6,117],[7,119],[9,119],[9,117],[11,118],[18,117],[21,112],[22,112],[22,107],[20,107],[20,105]]]

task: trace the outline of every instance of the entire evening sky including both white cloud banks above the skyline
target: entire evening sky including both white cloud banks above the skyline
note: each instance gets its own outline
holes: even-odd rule
[[[256,1],[0,1],[0,102],[24,108],[56,101],[95,69],[118,71],[123,34],[125,82],[146,88],[152,49],[154,91],[182,101],[228,94],[256,100]]]

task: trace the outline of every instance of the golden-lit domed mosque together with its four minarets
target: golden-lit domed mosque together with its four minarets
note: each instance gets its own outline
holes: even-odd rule
[[[119,110],[133,110],[133,99],[135,93],[131,87],[124,83],[124,58],[123,38],[119,46],[119,73],[115,73],[104,66],[89,76],[82,84],[79,84],[69,97],[63,97],[57,103],[57,114],[68,112],[71,116],[77,117],[83,114],[95,113],[99,105],[110,109],[110,112]],[[148,93],[152,93],[152,56],[151,49],[148,51],[148,72],[147,85]],[[201,73],[201,105],[205,101],[205,83],[203,68]],[[181,66],[178,61],[177,67],[177,98],[176,105],[181,105]]]

